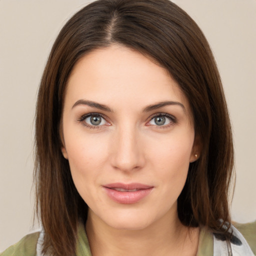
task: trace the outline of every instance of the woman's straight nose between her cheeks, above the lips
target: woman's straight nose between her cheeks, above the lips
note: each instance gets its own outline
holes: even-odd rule
[[[145,164],[144,148],[135,127],[121,127],[111,143],[111,165],[121,171],[138,170]]]

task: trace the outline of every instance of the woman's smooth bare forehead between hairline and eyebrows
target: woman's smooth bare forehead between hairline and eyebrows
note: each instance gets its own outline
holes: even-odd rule
[[[179,85],[165,68],[122,45],[95,49],[74,65],[65,101],[83,98],[127,107],[175,100],[189,108]]]

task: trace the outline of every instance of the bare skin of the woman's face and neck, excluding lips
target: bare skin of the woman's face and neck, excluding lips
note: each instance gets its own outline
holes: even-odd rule
[[[175,103],[148,109],[165,101]],[[99,125],[90,113],[102,115]],[[155,116],[163,114],[169,116],[157,125]],[[177,217],[177,197],[198,155],[191,116],[178,84],[138,51],[111,45],[75,64],[64,97],[62,153],[89,206],[93,256],[196,254],[198,228],[188,229]],[[138,202],[123,204],[104,190],[113,182],[153,188]]]

